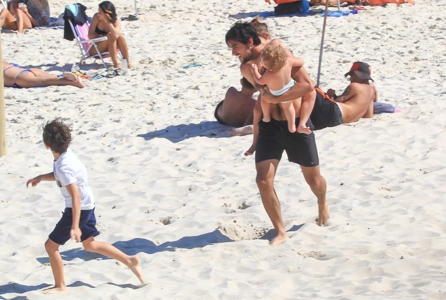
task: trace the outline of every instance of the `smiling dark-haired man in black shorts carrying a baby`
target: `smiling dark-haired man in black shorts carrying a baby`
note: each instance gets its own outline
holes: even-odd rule
[[[257,33],[251,23],[237,22],[226,34],[226,43],[232,49],[232,54],[237,56],[242,63],[241,71],[248,81],[255,84],[251,73],[251,64],[260,63],[260,53],[264,46],[258,39]],[[290,55],[292,57],[292,55]],[[248,78],[249,77],[249,78]],[[293,67],[291,78],[296,83],[294,88],[300,90],[300,95],[294,95],[292,104],[296,113],[295,124],[299,124],[302,118],[301,98],[313,92],[314,82],[308,77],[303,67]],[[258,86],[258,85],[257,85]],[[259,88],[260,89],[260,88]],[[319,172],[319,158],[316,149],[314,133],[290,133],[285,113],[280,105],[271,105],[270,122],[261,120],[261,96],[254,107],[254,146],[255,169],[257,172],[256,183],[260,192],[264,208],[276,230],[276,236],[271,245],[278,245],[288,239],[280,211],[279,199],[274,190],[274,177],[283,151],[286,151],[288,160],[301,166],[306,182],[318,200],[318,224],[323,225],[329,218],[328,204],[326,201],[326,183]],[[295,99],[295,100],[294,100]],[[256,115],[257,111],[257,115]],[[308,113],[309,114],[309,113]],[[309,116],[308,116],[309,117]],[[257,119],[257,120],[256,120]],[[308,118],[307,118],[308,119]],[[306,123],[310,128],[310,121]]]

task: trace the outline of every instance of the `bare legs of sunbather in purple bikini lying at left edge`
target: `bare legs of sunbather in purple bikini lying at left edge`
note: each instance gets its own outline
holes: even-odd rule
[[[37,74],[34,73],[35,68],[30,69],[31,72],[21,72],[15,83],[21,86],[22,88],[34,88],[34,87],[49,87],[49,86],[75,86],[78,88],[85,87],[82,83],[81,79],[78,78],[77,81],[66,79],[66,78],[58,78],[57,76],[51,77],[41,77],[39,76],[41,72]]]

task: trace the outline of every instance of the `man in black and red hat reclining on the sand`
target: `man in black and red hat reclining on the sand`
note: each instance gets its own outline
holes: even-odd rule
[[[378,93],[375,85],[369,83],[369,80],[373,81],[370,70],[370,66],[365,62],[353,63],[350,71],[345,74],[346,77],[350,76],[351,83],[341,96],[336,96],[332,89],[325,94],[315,88],[316,100],[310,116],[315,130],[373,117],[373,103],[378,101]],[[277,97],[267,91],[262,96],[266,101],[272,101],[271,103],[277,101],[272,100]],[[292,95],[287,93],[282,96],[285,100],[292,98]]]

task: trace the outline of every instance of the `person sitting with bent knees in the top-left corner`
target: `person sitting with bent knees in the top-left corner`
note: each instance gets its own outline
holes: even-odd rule
[[[10,1],[8,3],[8,9],[4,8],[0,12],[0,27],[10,30],[17,30],[18,33],[22,33],[23,29],[32,28],[31,20],[28,15],[26,7],[21,4],[21,7],[16,1]]]

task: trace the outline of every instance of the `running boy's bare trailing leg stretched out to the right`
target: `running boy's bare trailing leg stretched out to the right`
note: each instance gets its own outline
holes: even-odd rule
[[[133,274],[138,277],[141,284],[146,284],[144,281],[144,275],[142,274],[141,266],[139,265],[139,257],[136,255],[129,256],[119,250],[118,248],[104,242],[95,241],[93,237],[90,237],[82,242],[85,250],[90,252],[96,252],[110,258],[121,261],[124,265],[132,270]]]

